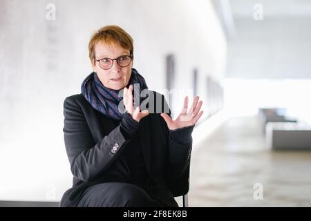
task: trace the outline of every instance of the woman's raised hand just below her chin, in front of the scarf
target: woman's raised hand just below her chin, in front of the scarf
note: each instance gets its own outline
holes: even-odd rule
[[[149,115],[149,111],[144,110],[144,111],[140,111],[140,107],[136,107],[134,110],[134,106],[133,106],[133,85],[129,86],[129,89],[124,87],[123,90],[123,101],[124,101],[124,106],[125,106],[125,110],[131,114],[131,116],[133,117],[133,119],[135,119],[136,122],[140,122],[140,119],[146,117],[147,115]]]

